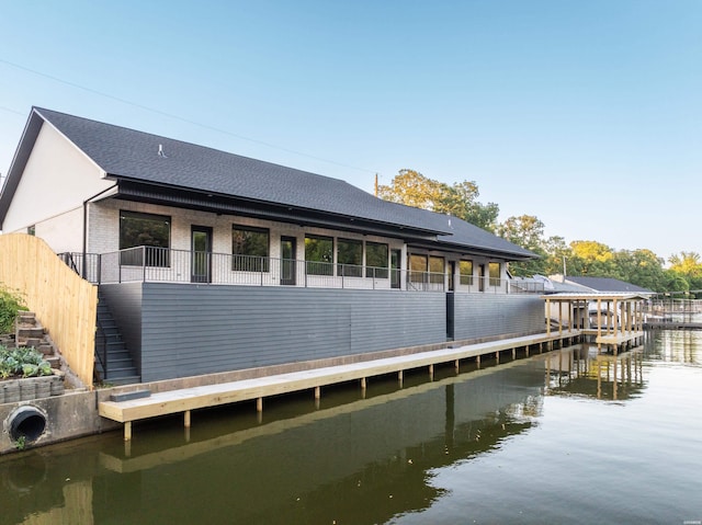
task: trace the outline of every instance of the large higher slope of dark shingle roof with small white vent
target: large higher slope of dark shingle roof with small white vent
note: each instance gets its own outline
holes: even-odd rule
[[[50,110],[36,111],[109,175],[429,229],[404,206],[387,206],[338,179]]]

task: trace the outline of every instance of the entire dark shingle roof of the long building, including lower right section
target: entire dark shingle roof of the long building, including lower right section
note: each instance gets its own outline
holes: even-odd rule
[[[41,127],[36,115],[115,179],[364,219],[506,258],[534,256],[455,217],[382,201],[338,179],[39,107],[30,116],[23,136],[26,144],[20,144],[11,167],[9,195],[0,195],[0,224]]]

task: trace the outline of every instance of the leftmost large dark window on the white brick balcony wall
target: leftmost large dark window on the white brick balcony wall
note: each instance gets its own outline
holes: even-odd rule
[[[120,250],[125,250],[120,255],[121,264],[168,267],[170,246],[170,217],[120,212]]]

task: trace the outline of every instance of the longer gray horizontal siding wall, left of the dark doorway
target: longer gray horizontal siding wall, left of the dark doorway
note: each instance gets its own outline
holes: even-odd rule
[[[143,284],[144,381],[445,341],[443,293]]]

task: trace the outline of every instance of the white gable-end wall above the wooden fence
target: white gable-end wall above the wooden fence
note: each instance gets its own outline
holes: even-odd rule
[[[82,250],[82,203],[113,185],[103,171],[44,123],[18,185],[3,232],[35,235],[56,252]]]

